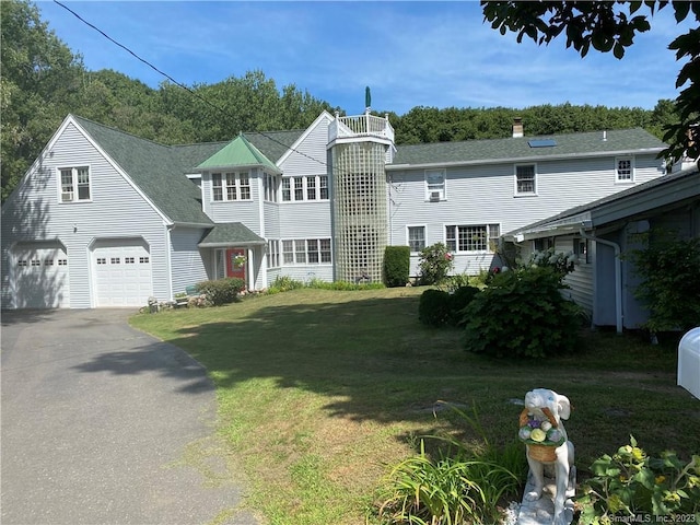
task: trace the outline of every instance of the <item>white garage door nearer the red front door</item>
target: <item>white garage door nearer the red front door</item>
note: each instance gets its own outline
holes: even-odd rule
[[[98,241],[92,250],[97,306],[145,306],[153,295],[151,254],[142,238]]]

